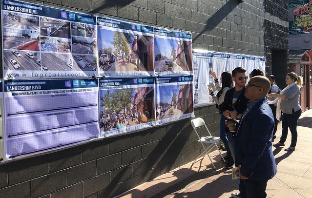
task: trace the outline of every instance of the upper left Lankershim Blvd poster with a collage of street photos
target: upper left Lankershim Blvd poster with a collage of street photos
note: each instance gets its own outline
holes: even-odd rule
[[[97,75],[96,17],[1,0],[3,78]]]

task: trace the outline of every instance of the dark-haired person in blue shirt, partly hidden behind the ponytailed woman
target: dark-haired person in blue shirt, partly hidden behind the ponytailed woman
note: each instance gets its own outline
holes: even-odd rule
[[[279,94],[279,93],[281,93],[280,88],[275,84],[275,77],[273,75],[270,75],[267,78],[270,80],[270,84],[271,84],[271,87],[270,87],[268,94],[271,94],[271,93]],[[276,138],[275,133],[277,131],[277,124],[278,124],[278,119],[276,118],[277,103],[274,103],[274,100],[276,99],[276,97],[269,97],[268,99],[269,99],[268,103],[269,103],[270,108],[272,109],[272,113],[273,113],[273,117],[274,117],[274,131],[273,131],[273,139],[272,139],[272,141],[274,141],[274,139]]]

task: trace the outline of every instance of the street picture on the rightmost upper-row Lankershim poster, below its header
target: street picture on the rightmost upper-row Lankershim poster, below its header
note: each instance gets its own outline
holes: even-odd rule
[[[155,72],[192,71],[191,41],[155,37]]]

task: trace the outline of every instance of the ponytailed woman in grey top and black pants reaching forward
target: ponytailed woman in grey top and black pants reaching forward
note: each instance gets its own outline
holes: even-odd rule
[[[285,146],[288,128],[291,130],[291,146],[285,151],[294,151],[297,143],[297,122],[301,116],[301,106],[298,102],[302,78],[295,73],[288,73],[285,79],[287,87],[280,94],[269,94],[269,97],[278,97],[276,117],[280,118],[283,112],[282,136],[275,146]]]

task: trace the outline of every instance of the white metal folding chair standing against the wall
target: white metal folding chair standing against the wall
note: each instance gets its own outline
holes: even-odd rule
[[[200,143],[202,144],[202,146],[203,146],[203,148],[204,148],[204,150],[205,150],[202,154],[200,154],[200,155],[194,160],[193,164],[197,161],[197,159],[198,159],[199,157],[201,157],[201,156],[202,156],[203,154],[205,154],[205,152],[206,152],[208,158],[210,159],[210,161],[211,161],[211,163],[212,163],[212,165],[213,165],[213,168],[215,169],[216,167],[214,166],[214,164],[213,164],[213,162],[212,162],[212,160],[211,160],[211,158],[210,158],[208,152],[209,152],[211,149],[213,149],[213,146],[215,146],[215,147],[218,149],[219,154],[221,155],[221,158],[222,158],[223,161],[225,162],[226,160],[223,158],[223,156],[222,156],[222,154],[221,154],[221,152],[220,152],[220,149],[219,149],[219,147],[218,147],[218,145],[217,145],[217,143],[218,143],[219,141],[221,141],[221,139],[220,139],[219,137],[212,137],[211,139],[205,139],[205,137],[200,137],[200,136],[198,135],[196,129],[198,129],[199,127],[204,127],[204,128],[206,128],[206,130],[207,130],[209,136],[211,137],[211,134],[210,134],[210,132],[209,132],[207,126],[206,126],[206,123],[205,123],[205,121],[204,121],[202,118],[192,119],[192,120],[191,120],[191,124],[192,124],[192,126],[193,126],[193,128],[194,128],[194,131],[195,131],[197,137],[198,137],[198,140],[197,140],[197,141],[200,142]]]

